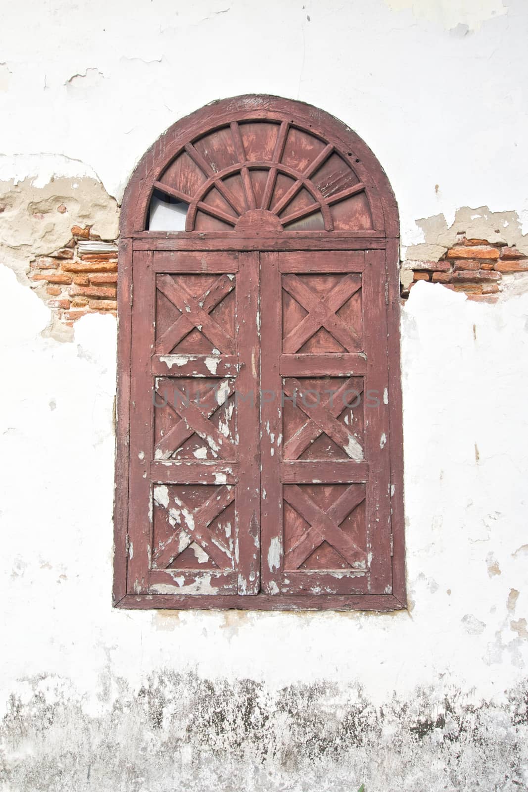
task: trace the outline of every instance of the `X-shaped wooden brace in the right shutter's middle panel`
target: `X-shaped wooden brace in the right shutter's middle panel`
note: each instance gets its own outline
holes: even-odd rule
[[[346,390],[346,385],[343,386]],[[351,459],[363,459],[363,448],[359,445],[358,441],[355,439],[355,436],[348,430],[346,426],[340,424],[339,421],[336,420],[332,409],[326,409],[323,404],[323,400],[321,398],[317,398],[316,394],[310,392],[309,388],[303,388],[300,383],[298,383],[297,379],[286,379],[283,384],[284,393],[287,394],[290,398],[294,399],[295,406],[299,409],[302,409],[302,412],[305,413],[318,428],[318,434],[325,432],[329,436],[331,440],[334,441],[338,446],[343,448],[345,454],[347,454]],[[342,390],[342,389],[340,389]],[[334,405],[336,402],[334,402]],[[335,409],[335,407],[334,407]],[[343,408],[341,407],[339,413],[343,412]],[[338,413],[338,414],[339,414]],[[303,432],[304,427],[300,430]],[[311,430],[315,432],[315,428]],[[294,457],[286,457],[286,449],[288,449],[288,453],[294,453],[297,451],[299,447],[301,450],[298,451],[299,454],[302,454],[304,448],[308,447],[306,444],[302,447],[302,442],[298,441],[297,434],[288,441],[287,446],[284,449],[285,459],[298,459],[297,456]],[[309,436],[308,429],[306,429],[306,433],[304,435]]]

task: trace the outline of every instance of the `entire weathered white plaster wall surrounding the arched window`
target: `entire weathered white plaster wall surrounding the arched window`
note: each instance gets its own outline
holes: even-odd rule
[[[463,238],[528,252],[526,6],[158,0],[8,12],[0,789],[525,789],[526,275],[474,270],[508,279],[480,292],[495,304],[431,281],[450,272],[457,284],[464,256],[448,252]],[[70,272],[61,290],[111,288],[92,283],[93,268],[56,264],[90,261],[71,228],[114,239],[142,151],[199,105],[247,92],[310,101],[367,140],[400,205],[405,268],[428,276],[402,317],[405,612],[112,611],[116,319],[113,306],[89,306],[112,299],[71,295],[88,300],[74,310],[100,313],[68,326],[58,311],[72,307],[44,301],[70,297],[30,274]],[[62,249],[72,256],[31,266]],[[506,261],[488,255],[476,261]]]

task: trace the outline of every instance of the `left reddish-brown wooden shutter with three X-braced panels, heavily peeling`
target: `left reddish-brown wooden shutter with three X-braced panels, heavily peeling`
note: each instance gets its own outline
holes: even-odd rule
[[[127,592],[256,594],[258,255],[135,256]]]

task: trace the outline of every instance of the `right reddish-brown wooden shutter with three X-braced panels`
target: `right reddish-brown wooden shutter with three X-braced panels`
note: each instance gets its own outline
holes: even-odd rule
[[[384,257],[268,253],[261,270],[263,590],[389,593]]]

